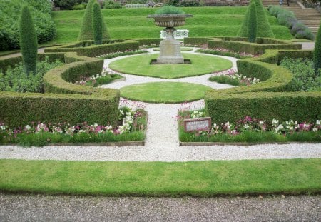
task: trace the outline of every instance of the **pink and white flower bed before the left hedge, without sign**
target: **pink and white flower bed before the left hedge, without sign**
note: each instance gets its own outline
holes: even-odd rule
[[[0,123],[0,144],[21,146],[44,146],[52,143],[106,143],[120,141],[143,141],[147,113],[143,109],[133,111],[128,107],[119,109],[120,125],[105,126],[86,122],[71,126],[69,123],[35,123],[19,128],[8,128]]]

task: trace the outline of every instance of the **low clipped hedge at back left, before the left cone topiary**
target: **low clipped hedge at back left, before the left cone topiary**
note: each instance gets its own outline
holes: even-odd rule
[[[83,44],[87,44],[88,46],[82,46]],[[103,54],[109,54],[111,52],[116,51],[126,51],[126,50],[138,50],[139,43],[138,41],[123,41],[123,42],[115,42],[111,44],[103,44],[103,45],[93,45],[93,41],[81,41],[76,44],[56,46],[51,48],[46,48],[45,52],[67,52],[67,51],[75,51],[80,56],[101,56]]]

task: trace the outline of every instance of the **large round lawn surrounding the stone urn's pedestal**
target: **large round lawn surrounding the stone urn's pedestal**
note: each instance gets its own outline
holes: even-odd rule
[[[139,76],[152,76],[163,79],[175,79],[186,76],[199,76],[210,74],[215,71],[230,69],[233,64],[228,59],[216,56],[183,54],[184,59],[190,59],[192,64],[154,64],[152,59],[157,59],[159,54],[144,54],[118,59],[109,64],[115,71],[124,74],[134,74]]]

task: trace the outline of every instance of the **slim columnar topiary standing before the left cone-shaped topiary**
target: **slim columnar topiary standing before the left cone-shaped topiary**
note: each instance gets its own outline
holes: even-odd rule
[[[101,45],[103,39],[103,18],[101,17],[101,6],[96,2],[93,4],[93,42]]]

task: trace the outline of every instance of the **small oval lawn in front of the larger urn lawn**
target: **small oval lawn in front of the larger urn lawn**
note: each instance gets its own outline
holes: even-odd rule
[[[202,99],[208,86],[178,82],[135,84],[121,88],[121,96],[134,101],[151,103],[181,103]]]

